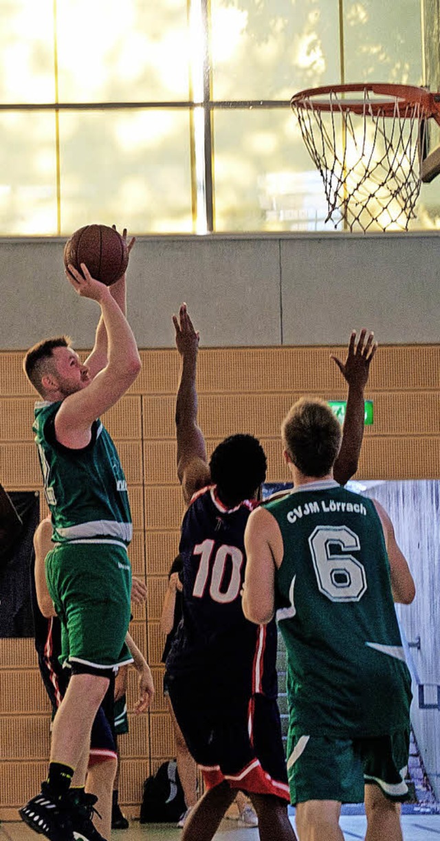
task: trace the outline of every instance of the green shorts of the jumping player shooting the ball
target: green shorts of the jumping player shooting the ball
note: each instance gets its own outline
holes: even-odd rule
[[[47,586],[62,623],[61,663],[111,669],[132,660],[131,566],[113,543],[58,544],[46,557]]]

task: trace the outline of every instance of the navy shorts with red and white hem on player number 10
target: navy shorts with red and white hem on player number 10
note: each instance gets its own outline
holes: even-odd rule
[[[289,801],[277,701],[220,690],[199,675],[167,674],[172,709],[207,788],[232,788]]]

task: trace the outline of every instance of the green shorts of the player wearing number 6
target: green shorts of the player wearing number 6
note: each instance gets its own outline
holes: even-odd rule
[[[409,729],[357,739],[304,735],[292,740],[289,733],[291,801],[294,805],[308,800],[363,803],[368,783],[379,785],[390,800],[404,801],[409,748]]]

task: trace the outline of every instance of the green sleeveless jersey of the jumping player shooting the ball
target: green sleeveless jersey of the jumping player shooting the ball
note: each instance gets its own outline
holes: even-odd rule
[[[61,401],[34,410],[35,443],[54,540],[130,543],[133,526],[124,471],[101,421],[94,421],[87,447],[72,450],[56,441],[55,415]]]

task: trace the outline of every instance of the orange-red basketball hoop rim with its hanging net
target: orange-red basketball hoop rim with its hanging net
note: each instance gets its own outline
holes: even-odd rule
[[[310,88],[290,104],[321,174],[326,221],[364,232],[408,230],[416,217],[427,120],[440,124],[425,87],[351,84]]]

